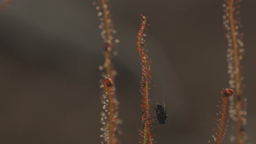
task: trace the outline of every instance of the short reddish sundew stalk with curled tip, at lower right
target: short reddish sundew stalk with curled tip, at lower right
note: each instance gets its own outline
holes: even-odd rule
[[[232,96],[234,94],[234,90],[231,88],[226,88],[226,89],[223,89],[221,93],[223,94],[223,96],[219,102],[222,104],[222,106],[217,105],[217,107],[222,109],[222,111],[220,111],[220,113],[217,113],[217,115],[220,115],[220,118],[214,118],[219,122],[219,123],[215,123],[217,124],[218,129],[213,129],[215,131],[218,131],[215,135],[213,135],[214,141],[217,144],[220,144],[223,142],[224,136],[226,134],[226,127],[228,127],[227,122],[229,118],[228,98],[229,96]]]

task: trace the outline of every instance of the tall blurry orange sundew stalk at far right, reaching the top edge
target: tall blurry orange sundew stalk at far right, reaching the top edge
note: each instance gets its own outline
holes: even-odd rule
[[[241,75],[241,64],[240,61],[243,56],[243,43],[242,37],[243,34],[238,31],[241,27],[240,18],[236,15],[240,14],[238,8],[240,7],[238,0],[226,0],[224,6],[225,15],[224,26],[228,30],[226,37],[229,41],[228,49],[228,62],[229,62],[229,74],[230,74],[230,87],[234,88],[236,91],[235,101],[230,106],[231,117],[236,121],[236,143],[242,144],[245,143],[245,131],[243,125],[246,124],[246,119],[244,117],[246,111],[246,99],[243,96],[242,91],[242,75]]]

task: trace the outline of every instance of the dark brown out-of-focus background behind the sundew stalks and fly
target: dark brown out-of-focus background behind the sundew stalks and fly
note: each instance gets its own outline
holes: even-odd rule
[[[0,14],[0,143],[100,143],[103,41],[92,0],[13,0]],[[140,14],[149,17],[151,97],[168,119],[153,131],[158,143],[207,143],[216,107],[228,87],[224,1],[111,0],[118,71],[121,142],[138,143],[141,65],[136,49]],[[246,131],[256,134],[256,1],[241,3]],[[230,122],[229,124],[232,124]],[[232,127],[226,135],[229,142]]]

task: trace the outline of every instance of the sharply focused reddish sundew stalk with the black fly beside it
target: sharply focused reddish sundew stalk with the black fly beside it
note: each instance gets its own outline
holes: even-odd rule
[[[151,71],[151,60],[148,60],[148,55],[146,54],[144,44],[145,40],[143,39],[146,34],[144,34],[144,29],[146,28],[147,23],[147,17],[142,15],[142,23],[141,27],[138,32],[138,40],[137,40],[137,49],[139,56],[141,57],[141,65],[142,65],[142,81],[141,81],[141,96],[142,96],[142,129],[139,130],[139,135],[141,135],[141,138],[139,138],[139,142],[143,144],[152,144],[154,143],[154,139],[152,137],[151,131],[152,131],[152,123],[154,122],[152,117],[150,116],[151,110],[150,110],[150,99],[149,99],[149,83],[150,83],[150,71]]]

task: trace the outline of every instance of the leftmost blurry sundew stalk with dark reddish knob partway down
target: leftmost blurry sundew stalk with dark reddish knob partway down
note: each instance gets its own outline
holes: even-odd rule
[[[101,123],[104,125],[101,129],[103,134],[101,137],[104,139],[104,143],[115,144],[118,143],[118,124],[121,121],[118,119],[118,100],[115,95],[115,70],[112,63],[112,49],[113,49],[113,24],[110,19],[110,11],[108,9],[108,1],[101,0],[100,4],[96,7],[100,10],[98,16],[100,16],[102,29],[101,36],[105,43],[104,57],[105,62],[103,66],[100,66],[100,70],[105,70],[103,73],[104,80],[101,81],[101,87],[103,88],[102,104],[104,112],[102,112]],[[115,40],[117,42],[119,40]]]

